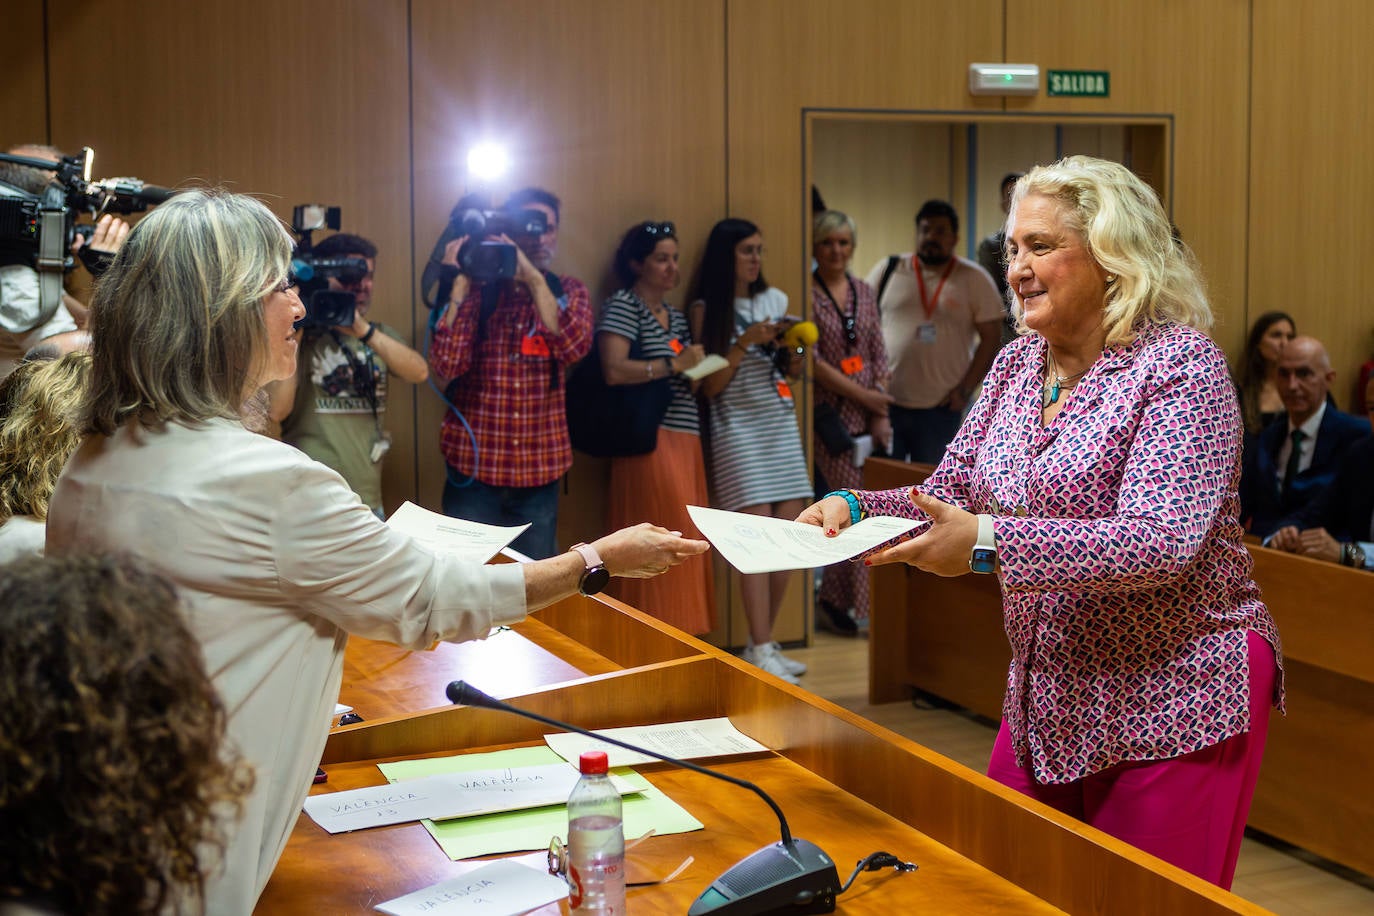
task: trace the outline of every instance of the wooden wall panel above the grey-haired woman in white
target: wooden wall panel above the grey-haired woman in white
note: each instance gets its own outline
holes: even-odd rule
[[[223,184],[290,218],[334,203],[378,249],[371,317],[412,332],[405,8],[365,0],[60,5],[52,133],[99,177]],[[129,54],[110,23],[157,40]],[[104,74],[104,76],[100,76]],[[412,499],[414,394],[393,382],[387,501]]]

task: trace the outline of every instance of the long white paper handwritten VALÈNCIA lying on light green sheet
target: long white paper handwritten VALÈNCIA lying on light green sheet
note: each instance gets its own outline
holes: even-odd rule
[[[566,762],[547,766],[507,766],[467,773],[440,773],[390,786],[368,786],[311,795],[305,813],[331,834],[404,824],[429,817],[471,817],[522,808],[565,805],[577,784],[577,769]],[[611,776],[621,795],[639,787]]]

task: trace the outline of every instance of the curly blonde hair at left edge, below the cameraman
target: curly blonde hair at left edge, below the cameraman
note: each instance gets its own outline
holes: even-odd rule
[[[91,354],[21,363],[4,380],[0,422],[0,522],[48,518],[48,500],[81,442],[77,413],[91,376]]]

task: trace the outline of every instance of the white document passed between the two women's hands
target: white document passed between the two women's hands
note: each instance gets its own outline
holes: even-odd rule
[[[826,537],[819,525],[688,505],[701,536],[741,573],[809,570],[853,559],[921,522],[874,515]]]

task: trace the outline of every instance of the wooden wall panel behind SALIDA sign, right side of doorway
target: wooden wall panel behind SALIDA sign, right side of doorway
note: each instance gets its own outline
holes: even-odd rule
[[[1006,10],[1009,60],[1112,73],[1110,98],[1041,91],[1018,99],[1018,110],[1175,117],[1172,216],[1202,264],[1217,316],[1213,335],[1234,357],[1246,325],[1249,0],[1063,0],[1052,12],[1035,0],[1007,0]],[[1276,22],[1292,32],[1287,14]],[[1341,27],[1359,34],[1348,22]],[[1336,59],[1326,59],[1334,73]],[[1304,150],[1309,141],[1294,139]]]

